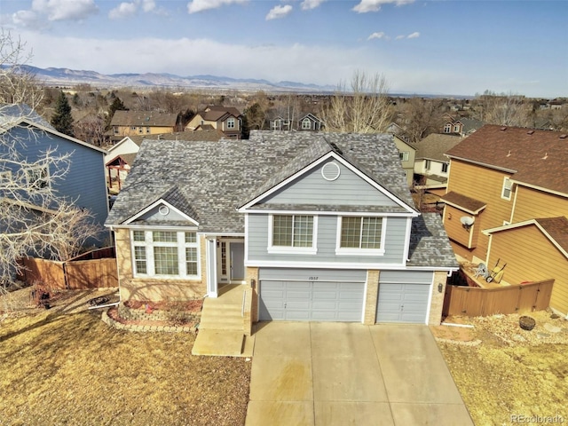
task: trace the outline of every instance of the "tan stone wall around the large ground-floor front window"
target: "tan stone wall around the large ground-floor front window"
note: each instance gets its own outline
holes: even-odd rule
[[[201,280],[134,278],[130,258],[130,230],[114,230],[116,263],[118,265],[119,288],[122,301],[191,300],[207,294],[207,266],[205,237],[200,239]]]

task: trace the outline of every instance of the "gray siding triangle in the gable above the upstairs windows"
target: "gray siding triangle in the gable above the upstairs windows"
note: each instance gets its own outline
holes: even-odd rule
[[[321,176],[321,168],[324,164],[320,164],[319,167],[280,188],[278,192],[263,201],[276,204],[327,205],[333,202],[347,206],[398,205],[343,164],[335,163],[340,168],[340,175],[337,179],[333,181],[324,179]]]

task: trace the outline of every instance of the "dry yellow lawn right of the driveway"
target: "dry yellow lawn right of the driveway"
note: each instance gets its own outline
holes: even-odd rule
[[[513,415],[568,422],[568,321],[530,315],[531,331],[518,327],[519,315],[453,319],[473,329],[432,327],[477,426],[515,424]]]

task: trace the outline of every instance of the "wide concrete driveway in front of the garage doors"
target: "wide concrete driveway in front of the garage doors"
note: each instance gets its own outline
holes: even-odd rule
[[[260,323],[246,426],[473,425],[430,329]]]

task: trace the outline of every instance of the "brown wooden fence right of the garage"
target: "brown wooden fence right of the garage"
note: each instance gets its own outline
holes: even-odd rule
[[[542,311],[548,308],[554,280],[498,288],[446,286],[443,315],[486,317],[496,313]]]

